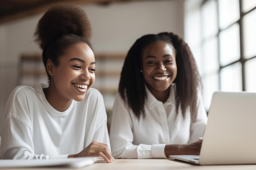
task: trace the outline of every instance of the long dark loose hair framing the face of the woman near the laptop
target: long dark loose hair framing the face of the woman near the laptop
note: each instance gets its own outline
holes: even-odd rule
[[[201,78],[188,44],[174,33],[144,35],[132,45],[122,68],[118,92],[138,119],[141,115],[145,116],[144,104],[147,96],[145,80],[140,73],[141,60],[145,47],[157,41],[169,43],[175,49],[177,76],[173,83],[176,84],[176,112],[180,107],[185,117],[186,109],[189,108],[192,118],[195,118],[198,110],[198,89],[202,89]]]

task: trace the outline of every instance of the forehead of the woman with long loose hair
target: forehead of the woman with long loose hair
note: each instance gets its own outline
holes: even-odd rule
[[[174,54],[173,46],[164,41],[157,41],[148,44],[144,51],[143,56],[146,57],[147,55],[165,55],[165,54]]]

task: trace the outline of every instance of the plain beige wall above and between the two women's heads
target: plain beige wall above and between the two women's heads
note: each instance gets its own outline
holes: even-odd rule
[[[95,51],[124,52],[142,35],[174,31],[183,36],[183,0],[155,0],[85,7]]]

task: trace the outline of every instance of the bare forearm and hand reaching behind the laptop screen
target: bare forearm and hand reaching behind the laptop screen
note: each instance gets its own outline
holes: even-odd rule
[[[192,144],[170,144],[164,148],[166,157],[169,155],[199,155],[203,138],[200,137],[198,141]]]

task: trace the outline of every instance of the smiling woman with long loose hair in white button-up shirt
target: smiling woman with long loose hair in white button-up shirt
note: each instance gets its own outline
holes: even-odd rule
[[[174,33],[139,38],[126,56],[113,108],[115,158],[199,155],[207,114],[189,46]]]

